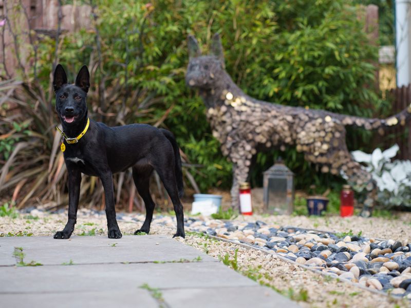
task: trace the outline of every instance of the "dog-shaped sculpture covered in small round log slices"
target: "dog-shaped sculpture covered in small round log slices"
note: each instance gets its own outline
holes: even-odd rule
[[[264,147],[284,150],[285,145],[294,145],[322,172],[342,175],[350,184],[366,187],[362,216],[370,216],[376,186],[370,174],[352,159],[345,143],[345,126],[377,129],[383,134],[386,127],[405,125],[411,105],[388,119],[366,119],[259,101],[245,94],[225,70],[218,34],[212,38],[209,55],[201,55],[194,36],[189,36],[188,48],[185,81],[199,90],[208,108],[213,136],[221,143],[223,155],[233,163],[233,206],[238,205],[239,183],[247,181],[252,156]]]

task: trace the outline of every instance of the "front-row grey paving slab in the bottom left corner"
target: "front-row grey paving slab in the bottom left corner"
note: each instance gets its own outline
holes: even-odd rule
[[[157,301],[150,293],[141,289],[114,292],[0,294],[0,303],[2,307],[7,308],[158,308]]]

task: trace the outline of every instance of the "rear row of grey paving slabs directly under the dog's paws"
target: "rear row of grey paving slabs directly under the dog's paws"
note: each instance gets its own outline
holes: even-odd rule
[[[115,246],[112,246],[113,244]],[[193,260],[201,255],[193,247],[179,243],[169,236],[159,235],[123,236],[121,239],[74,236],[69,240],[56,240],[52,237],[0,238],[0,253],[3,248],[5,255],[9,253],[12,257],[14,247],[23,248],[26,262],[34,260],[44,265],[60,265],[70,260],[76,264]],[[202,254],[201,258],[204,262],[216,262],[205,254]],[[8,264],[10,260],[7,256],[3,261],[0,254],[0,265]]]

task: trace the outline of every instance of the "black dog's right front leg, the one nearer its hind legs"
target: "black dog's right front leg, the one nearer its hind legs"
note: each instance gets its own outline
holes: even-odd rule
[[[108,238],[119,239],[123,235],[116,220],[116,208],[114,204],[114,189],[113,189],[113,174],[111,171],[106,171],[100,176],[104,187],[104,195],[106,198],[106,216]]]

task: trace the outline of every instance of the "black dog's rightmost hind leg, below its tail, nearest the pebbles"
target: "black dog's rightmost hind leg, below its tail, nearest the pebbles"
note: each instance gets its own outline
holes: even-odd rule
[[[176,213],[177,233],[173,237],[180,236],[182,238],[185,238],[183,206],[181,204],[180,198],[178,197],[177,180],[176,175],[174,174],[174,166],[173,168],[171,168],[170,166],[167,166],[165,168],[160,167],[157,168],[156,171],[170,196],[171,202],[173,202],[174,211]]]

